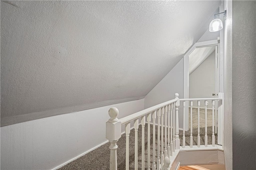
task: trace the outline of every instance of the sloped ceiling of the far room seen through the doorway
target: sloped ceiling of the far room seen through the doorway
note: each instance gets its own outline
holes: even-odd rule
[[[189,55],[189,74],[193,73],[215,51],[215,46],[194,49]]]

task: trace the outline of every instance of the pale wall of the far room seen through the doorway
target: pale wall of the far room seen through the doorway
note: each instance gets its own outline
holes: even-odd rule
[[[215,50],[189,75],[189,98],[211,98],[215,93]],[[195,105],[195,107],[197,104]],[[204,101],[200,102],[204,107]],[[209,102],[208,108],[212,107]]]

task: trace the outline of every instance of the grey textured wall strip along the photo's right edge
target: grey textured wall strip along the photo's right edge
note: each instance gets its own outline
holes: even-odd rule
[[[256,1],[232,3],[233,170],[256,169]]]

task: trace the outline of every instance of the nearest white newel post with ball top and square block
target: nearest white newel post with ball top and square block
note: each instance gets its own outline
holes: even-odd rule
[[[116,107],[112,107],[108,111],[108,115],[110,119],[106,122],[106,138],[110,142],[110,170],[117,170],[117,156],[116,149],[118,148],[116,142],[121,137],[121,122],[118,121],[118,109]]]

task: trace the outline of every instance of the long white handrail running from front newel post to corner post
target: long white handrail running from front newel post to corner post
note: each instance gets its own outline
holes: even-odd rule
[[[146,115],[146,114],[148,114],[148,113],[150,113],[150,112],[152,112],[152,111],[155,111],[155,110],[157,110],[157,109],[160,109],[161,107],[164,107],[164,106],[166,106],[166,105],[170,105],[171,103],[174,103],[174,102],[176,102],[176,101],[177,101],[177,99],[172,99],[172,100],[170,100],[170,101],[166,101],[166,102],[164,102],[164,103],[160,103],[160,104],[155,105],[155,106],[152,106],[152,107],[150,107],[150,108],[148,108],[148,109],[144,109],[144,110],[139,111],[139,112],[137,112],[137,113],[134,113],[134,114],[132,114],[132,115],[123,117],[123,118],[119,119],[119,121],[121,122],[122,125],[124,125],[124,124],[126,124],[126,123],[128,123],[128,122],[130,122],[130,121],[133,121],[133,120],[135,120],[135,119],[138,119],[139,117],[142,117],[142,116],[144,116],[144,115]]]

